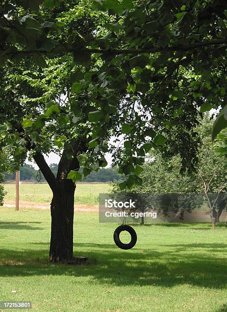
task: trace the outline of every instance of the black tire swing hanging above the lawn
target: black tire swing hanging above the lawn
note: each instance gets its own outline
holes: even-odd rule
[[[130,233],[131,241],[129,244],[124,244],[120,241],[120,233],[122,231],[127,231]],[[133,248],[137,242],[136,231],[134,230],[134,228],[132,226],[129,226],[127,224],[121,224],[120,226],[118,226],[114,231],[113,237],[114,237],[114,242],[117,245],[117,247],[124,249],[124,250],[128,250],[128,249]]]

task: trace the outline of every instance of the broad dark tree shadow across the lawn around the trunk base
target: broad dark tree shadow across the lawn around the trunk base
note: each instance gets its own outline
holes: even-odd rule
[[[46,243],[47,244],[47,243]],[[45,245],[45,243],[40,243]],[[74,255],[88,256],[91,265],[64,266],[47,264],[48,246],[42,250],[0,250],[1,262],[20,262],[21,265],[0,266],[0,276],[69,275],[92,276],[94,283],[114,285],[152,285],[174,287],[191,284],[211,289],[226,288],[227,259],[205,250],[227,248],[226,244],[168,245],[180,252],[158,250],[121,250],[115,245],[75,244]],[[199,247],[198,253],[194,248]],[[187,249],[190,249],[188,253]],[[37,260],[37,262],[36,262]],[[28,265],[28,263],[34,265]],[[24,263],[24,264],[23,264]],[[92,281],[91,281],[92,283]]]

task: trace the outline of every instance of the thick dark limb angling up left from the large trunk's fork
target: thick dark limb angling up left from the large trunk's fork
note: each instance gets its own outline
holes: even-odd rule
[[[51,171],[51,169],[47,165],[47,163],[43,157],[43,154],[40,152],[36,152],[33,155],[33,158],[34,158],[37,166],[39,167],[40,171],[44,175],[49,187],[54,192],[57,188],[57,181],[56,181],[54,173]]]

